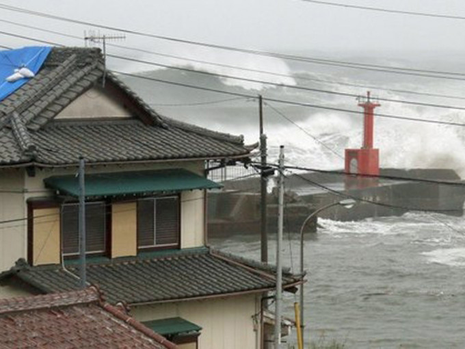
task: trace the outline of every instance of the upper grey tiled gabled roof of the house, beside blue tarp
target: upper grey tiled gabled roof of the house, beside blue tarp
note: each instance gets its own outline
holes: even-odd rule
[[[53,48],[33,79],[0,101],[0,166],[77,164],[248,155],[243,138],[160,116],[112,73],[106,86],[135,105],[133,118],[54,120],[101,83],[98,49]]]

